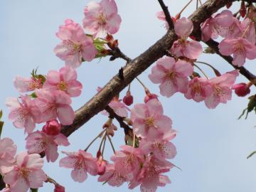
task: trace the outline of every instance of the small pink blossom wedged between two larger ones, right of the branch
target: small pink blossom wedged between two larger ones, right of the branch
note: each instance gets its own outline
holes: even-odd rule
[[[196,102],[201,102],[212,92],[210,82],[206,78],[196,77],[189,81],[188,92],[185,93],[185,97],[188,100],[193,99]]]

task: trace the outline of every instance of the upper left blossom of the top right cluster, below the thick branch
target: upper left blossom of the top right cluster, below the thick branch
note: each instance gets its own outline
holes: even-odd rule
[[[202,40],[208,41],[210,38],[234,38],[241,32],[238,18],[233,16],[229,10],[224,10],[220,14],[206,19],[201,24]]]

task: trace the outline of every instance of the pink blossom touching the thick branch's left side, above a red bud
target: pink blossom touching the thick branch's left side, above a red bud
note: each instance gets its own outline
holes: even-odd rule
[[[70,107],[70,97],[60,90],[36,90],[35,102],[41,111],[38,122],[47,122],[52,119],[59,119],[63,125],[72,124],[75,118],[75,112]]]

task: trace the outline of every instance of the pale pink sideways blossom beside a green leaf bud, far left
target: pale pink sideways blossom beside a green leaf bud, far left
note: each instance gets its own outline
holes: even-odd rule
[[[23,78],[17,76],[14,79],[14,87],[19,92],[28,92],[36,89],[41,89],[43,87],[40,80],[36,80],[34,78]]]

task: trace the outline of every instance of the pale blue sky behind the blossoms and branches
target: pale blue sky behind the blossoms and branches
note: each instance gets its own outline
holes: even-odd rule
[[[13,80],[16,75],[28,76],[33,68],[38,67],[40,73],[48,70],[58,70],[64,63],[53,53],[53,48],[59,43],[55,33],[65,18],[82,23],[82,9],[89,1],[68,0],[23,0],[0,1],[0,108],[4,110],[4,131],[2,137],[11,137],[18,146],[18,151],[25,149],[22,129],[16,129],[7,116],[9,111],[4,102],[6,97],[18,96]],[[119,14],[122,17],[120,30],[114,35],[119,40],[119,47],[129,57],[134,58],[149,48],[164,35],[164,24],[156,18],[156,12],[161,11],[157,1],[149,0],[117,0]],[[186,4],[186,0],[166,1],[172,15]],[[195,9],[192,4],[183,14],[189,16]],[[225,61],[215,55],[201,55],[200,60],[213,64],[225,73],[233,70]],[[124,65],[123,60],[110,62],[108,58],[96,59],[91,63],[83,63],[78,68],[78,80],[83,84],[80,97],[73,100],[76,110],[95,95],[97,86],[103,86],[112,78],[117,70]],[[256,73],[255,63],[247,62],[245,66]],[[151,92],[159,94],[157,85],[152,84],[146,70],[140,79]],[[213,76],[213,73],[206,69]],[[238,78],[238,82],[245,78]],[[252,88],[252,93],[255,88]],[[137,83],[132,83],[134,102],[142,102],[144,91]],[[135,95],[136,93],[136,95]],[[122,92],[122,96],[125,92]],[[247,120],[237,120],[247,105],[246,98],[233,95],[233,100],[227,105],[219,105],[215,110],[208,110],[203,102],[196,103],[186,100],[181,94],[171,98],[160,97],[164,112],[171,117],[174,128],[178,131],[173,140],[178,154],[172,161],[182,171],[173,169],[169,172],[171,185],[159,188],[158,191],[196,191],[196,192],[252,192],[256,188],[256,156],[246,159],[251,151],[256,149],[255,114],[250,114]],[[68,139],[70,146],[60,147],[59,151],[77,151],[84,149],[101,130],[106,117],[98,114],[87,122]],[[38,126],[37,129],[41,129]],[[123,132],[119,129],[113,139],[116,149],[123,143]],[[98,143],[89,150],[96,153]],[[112,155],[107,145],[107,156]],[[63,157],[60,154],[60,158]],[[60,159],[59,158],[59,159]],[[45,164],[46,173],[63,184],[66,191],[130,191],[124,184],[120,188],[112,188],[97,182],[97,178],[89,176],[84,183],[75,183],[70,178],[70,169],[60,169],[58,161]],[[53,191],[53,186],[45,184],[40,191]],[[139,191],[139,188],[134,189]]]

